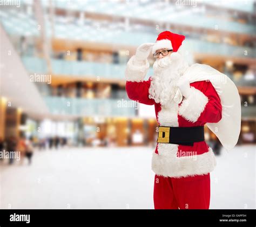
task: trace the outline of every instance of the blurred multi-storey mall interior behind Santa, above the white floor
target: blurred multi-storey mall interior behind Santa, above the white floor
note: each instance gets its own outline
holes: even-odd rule
[[[129,100],[124,71],[136,48],[165,30],[186,36],[194,62],[234,81],[242,109],[238,146],[255,146],[255,1],[9,2],[0,8],[1,149],[24,140],[40,155],[156,146],[154,108]],[[153,63],[151,56],[147,77]],[[207,126],[205,137],[217,154]]]

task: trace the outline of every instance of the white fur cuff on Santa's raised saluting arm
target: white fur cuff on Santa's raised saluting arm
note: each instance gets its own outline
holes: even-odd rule
[[[149,70],[150,64],[146,59],[144,61],[137,60],[136,56],[132,56],[130,60],[127,62],[127,66],[125,69],[125,79],[127,81],[143,81],[147,70]]]

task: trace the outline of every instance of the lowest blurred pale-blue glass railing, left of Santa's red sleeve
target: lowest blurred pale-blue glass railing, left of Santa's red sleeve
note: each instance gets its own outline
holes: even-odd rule
[[[44,97],[50,112],[74,116],[135,116],[138,103],[124,99]]]

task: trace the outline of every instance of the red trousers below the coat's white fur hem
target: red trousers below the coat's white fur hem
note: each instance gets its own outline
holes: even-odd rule
[[[181,178],[154,176],[154,209],[209,209],[210,173]]]

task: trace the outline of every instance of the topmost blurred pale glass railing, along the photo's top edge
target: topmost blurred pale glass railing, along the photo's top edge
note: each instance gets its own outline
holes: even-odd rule
[[[192,2],[196,3],[196,1]],[[42,0],[42,4],[46,7],[49,7],[48,1]],[[179,6],[179,1],[176,1],[176,4],[169,4],[167,2],[161,1],[143,3],[140,1],[118,2],[102,0],[95,4],[94,0],[73,0],[72,2],[55,1],[54,4],[56,8],[65,10],[85,11],[118,17],[150,20],[156,24],[172,23],[194,27],[203,27],[206,29],[215,29],[215,26],[218,25],[218,30],[236,33],[255,33],[255,27],[253,25],[232,22],[230,21],[230,18],[212,18],[211,16],[207,15],[207,10],[205,10],[204,5],[196,5],[197,7],[191,5],[191,7],[188,9]],[[249,6],[247,8],[253,10],[253,1],[246,2],[246,4],[240,3],[240,5]],[[219,4],[219,6],[221,7],[221,4]]]

